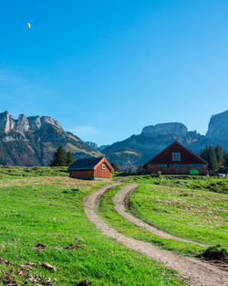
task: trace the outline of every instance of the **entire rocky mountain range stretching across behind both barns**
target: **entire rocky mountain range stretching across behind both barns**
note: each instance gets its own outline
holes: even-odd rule
[[[146,126],[140,134],[126,140],[100,147],[64,131],[51,117],[21,114],[15,120],[8,111],[0,113],[0,164],[4,165],[47,165],[57,147],[62,145],[76,159],[104,154],[109,162],[117,162],[121,169],[136,168],[174,140],[196,154],[208,144],[220,144],[228,151],[228,111],[212,115],[205,135],[188,131],[180,122],[160,123]]]

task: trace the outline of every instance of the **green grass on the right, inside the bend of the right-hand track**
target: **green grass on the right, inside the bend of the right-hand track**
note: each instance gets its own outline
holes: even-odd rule
[[[227,196],[145,183],[130,196],[131,212],[172,235],[225,246]]]

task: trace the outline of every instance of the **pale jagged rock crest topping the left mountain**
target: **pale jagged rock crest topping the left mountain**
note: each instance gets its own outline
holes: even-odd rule
[[[15,120],[8,111],[0,113],[0,131],[3,132],[9,132],[11,130],[16,130],[18,132],[26,132],[28,130],[37,131],[47,124],[52,124],[63,130],[59,122],[48,116],[26,117],[25,114],[20,114],[18,119]]]

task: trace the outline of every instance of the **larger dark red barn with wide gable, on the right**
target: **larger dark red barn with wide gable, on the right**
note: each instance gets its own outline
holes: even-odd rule
[[[144,164],[147,174],[208,175],[208,164],[181,143],[174,142]]]

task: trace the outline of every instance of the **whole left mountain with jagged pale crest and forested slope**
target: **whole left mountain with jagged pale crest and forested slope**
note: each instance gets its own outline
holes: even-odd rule
[[[75,158],[101,155],[50,117],[0,113],[0,164],[47,165],[60,145]]]

